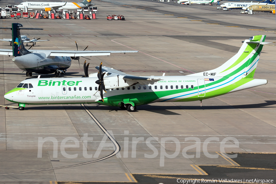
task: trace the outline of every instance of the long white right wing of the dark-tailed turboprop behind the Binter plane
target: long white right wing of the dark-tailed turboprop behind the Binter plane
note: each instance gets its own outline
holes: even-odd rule
[[[61,50],[29,50],[33,53],[45,53],[46,57],[50,56],[109,56],[111,53],[129,53],[138,51],[61,51]]]

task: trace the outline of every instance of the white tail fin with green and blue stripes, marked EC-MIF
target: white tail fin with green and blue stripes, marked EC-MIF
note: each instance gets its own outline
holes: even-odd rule
[[[206,76],[206,78],[212,76],[253,78],[263,45],[270,43],[264,42],[265,38],[265,35],[253,36],[245,40],[239,52],[220,67],[191,75]]]

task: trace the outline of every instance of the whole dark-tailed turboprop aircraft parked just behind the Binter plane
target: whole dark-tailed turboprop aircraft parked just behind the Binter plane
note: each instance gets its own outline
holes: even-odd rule
[[[60,77],[61,73],[65,74],[67,68],[71,66],[71,60],[79,60],[84,56],[109,56],[110,53],[126,53],[138,51],[61,51],[61,50],[27,50],[25,49],[20,36],[21,29],[39,29],[39,28],[23,28],[21,24],[12,23],[11,29],[13,36],[13,50],[0,49],[0,55],[15,56],[12,61],[23,71],[26,71],[26,76],[32,76],[32,73],[37,74],[52,74],[55,77]],[[76,43],[77,44],[77,43]],[[87,59],[87,58],[86,58]]]

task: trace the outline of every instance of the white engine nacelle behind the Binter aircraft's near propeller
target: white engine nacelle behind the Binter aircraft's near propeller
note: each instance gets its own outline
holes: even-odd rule
[[[116,89],[121,87],[128,87],[136,83],[136,81],[124,80],[124,75],[117,75],[104,78],[105,89]]]

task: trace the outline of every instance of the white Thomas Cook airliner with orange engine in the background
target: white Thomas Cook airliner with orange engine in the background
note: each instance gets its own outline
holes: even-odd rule
[[[90,3],[91,0],[84,0],[82,2],[21,2],[17,5],[17,8],[27,7],[33,10],[76,10],[82,9],[89,6],[94,6],[95,4]]]

